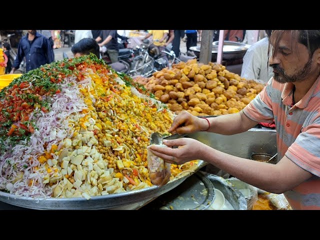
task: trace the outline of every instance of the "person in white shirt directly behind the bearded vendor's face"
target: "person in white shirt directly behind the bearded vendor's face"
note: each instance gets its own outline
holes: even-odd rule
[[[267,37],[252,44],[243,56],[241,77],[257,80],[266,84],[272,77],[272,69],[268,67],[268,45],[272,30],[265,30]]]

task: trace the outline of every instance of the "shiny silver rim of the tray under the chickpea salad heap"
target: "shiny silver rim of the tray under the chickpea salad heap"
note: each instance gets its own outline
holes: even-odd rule
[[[144,204],[154,197],[157,197],[180,183],[182,183],[188,176],[192,175],[195,171],[206,165],[206,162],[199,160],[195,167],[182,172],[177,177],[173,178],[164,186],[151,186],[139,190],[120,192],[109,195],[93,196],[89,200],[84,197],[70,197],[70,198],[32,198],[32,197],[19,197],[14,194],[1,192],[0,201],[32,209],[110,209],[116,207],[123,207],[124,205],[133,205],[132,203],[142,202]],[[139,206],[137,204],[136,206]],[[125,209],[125,208],[121,208]]]

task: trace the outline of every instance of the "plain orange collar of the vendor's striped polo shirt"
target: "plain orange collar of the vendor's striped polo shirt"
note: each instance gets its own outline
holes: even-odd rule
[[[319,83],[319,79],[320,79],[320,76],[318,76],[318,78],[314,81],[314,83],[312,84],[310,89],[307,91],[307,93],[297,103],[294,104],[296,107],[305,108],[308,105],[313,95],[313,92]],[[292,82],[284,83],[284,87],[281,93],[281,98],[282,98],[283,104],[285,105],[291,106],[293,86],[294,85]]]

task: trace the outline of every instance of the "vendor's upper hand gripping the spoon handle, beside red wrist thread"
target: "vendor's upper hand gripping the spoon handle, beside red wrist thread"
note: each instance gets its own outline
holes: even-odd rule
[[[173,133],[192,133],[195,131],[201,131],[208,129],[208,122],[191,113],[183,110],[176,117],[174,117],[169,132]]]

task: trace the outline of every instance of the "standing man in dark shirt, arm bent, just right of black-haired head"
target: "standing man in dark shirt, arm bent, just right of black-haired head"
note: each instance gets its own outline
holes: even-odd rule
[[[112,63],[118,61],[119,48],[117,42],[117,33],[116,30],[101,30],[101,34],[95,38],[96,42],[103,39],[99,46],[105,46],[106,51],[109,54],[110,60]]]

